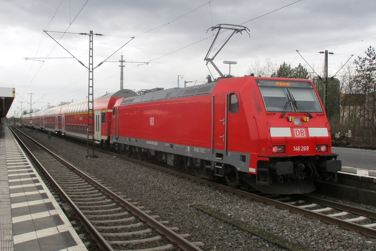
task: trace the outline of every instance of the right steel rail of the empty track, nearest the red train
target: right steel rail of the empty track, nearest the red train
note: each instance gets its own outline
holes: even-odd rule
[[[21,132],[22,133],[22,132]],[[39,147],[41,147],[44,151],[51,154],[53,157],[58,159],[61,163],[64,165],[67,165],[69,168],[74,170],[77,174],[79,174],[81,177],[85,178],[85,180],[88,180],[90,183],[92,183],[94,186],[98,187],[102,192],[107,194],[109,197],[117,201],[121,206],[129,210],[133,213],[133,215],[138,216],[141,220],[145,221],[150,227],[155,228],[156,231],[164,235],[168,240],[175,243],[179,248],[185,250],[185,251],[202,251],[202,249],[195,246],[193,243],[189,242],[188,240],[181,237],[179,234],[175,233],[170,228],[163,225],[161,222],[157,221],[156,219],[150,217],[147,213],[143,212],[141,209],[138,209],[136,206],[133,206],[133,204],[129,203],[128,201],[121,198],[119,195],[115,194],[111,190],[109,190],[107,187],[103,186],[93,178],[87,176],[85,173],[71,165],[69,162],[65,161],[52,151],[45,148],[43,145],[39,144],[29,136],[25,135],[30,140],[32,140],[35,144],[37,144]],[[144,162],[143,162],[144,163]],[[73,202],[72,202],[73,203]],[[103,238],[103,237],[102,237]]]

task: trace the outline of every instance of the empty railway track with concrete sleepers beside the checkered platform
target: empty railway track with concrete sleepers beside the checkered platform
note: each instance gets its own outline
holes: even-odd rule
[[[197,245],[26,135],[11,129],[102,250],[187,250]]]

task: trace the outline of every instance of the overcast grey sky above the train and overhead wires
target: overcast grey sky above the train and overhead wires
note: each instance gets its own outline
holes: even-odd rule
[[[125,64],[124,89],[176,87],[178,75],[183,76],[180,86],[184,81],[198,85],[206,81],[209,70],[217,77],[203,60],[214,38],[213,32],[206,31],[217,24],[242,24],[250,29],[250,37],[235,34],[215,57],[224,74],[229,67],[223,60],[237,61],[231,67],[234,76],[247,74],[255,60],[302,63],[311,70],[296,50],[316,71],[322,71],[324,61],[318,51],[335,53],[329,55],[332,76],[351,54],[353,62],[374,46],[376,1],[296,1],[0,0],[0,86],[16,88],[8,115],[13,115],[13,109],[17,112],[20,101],[23,110],[29,107],[30,93],[37,109],[46,108],[47,102],[57,105],[86,99],[89,36],[71,33],[92,30],[105,35],[93,36],[94,67],[128,42],[94,70],[94,96],[120,88],[117,61],[121,54],[128,62],[149,62]],[[221,33],[216,46],[228,34]]]

